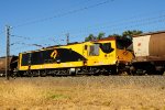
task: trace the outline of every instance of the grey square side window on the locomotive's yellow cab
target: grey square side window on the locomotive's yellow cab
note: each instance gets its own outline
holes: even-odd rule
[[[91,45],[89,47],[89,56],[98,56],[99,55],[99,44]]]

